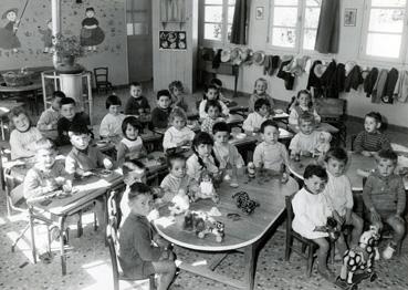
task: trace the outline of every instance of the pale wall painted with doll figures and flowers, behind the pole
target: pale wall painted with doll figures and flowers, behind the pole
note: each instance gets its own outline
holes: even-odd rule
[[[62,33],[80,38],[87,49],[79,62],[86,70],[101,64],[108,66],[109,81],[114,84],[125,84],[128,80],[125,2],[61,0]],[[51,68],[51,28],[50,0],[0,0],[0,71]]]

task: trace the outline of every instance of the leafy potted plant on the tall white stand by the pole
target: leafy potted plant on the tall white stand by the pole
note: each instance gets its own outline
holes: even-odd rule
[[[84,55],[84,48],[77,37],[64,37],[59,33],[53,37],[53,64],[60,73],[81,73],[84,68],[76,63],[76,59]]]

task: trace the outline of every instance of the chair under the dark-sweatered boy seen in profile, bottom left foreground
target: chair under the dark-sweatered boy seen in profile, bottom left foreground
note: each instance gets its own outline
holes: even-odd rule
[[[117,188],[119,189],[119,188]],[[150,275],[148,278],[140,278],[140,279],[130,279],[123,276],[122,270],[119,269],[118,263],[118,253],[119,253],[119,240],[117,230],[119,227],[119,219],[118,216],[119,210],[118,208],[118,201],[117,200],[117,193],[118,190],[111,191],[109,198],[107,200],[107,214],[108,214],[108,225],[106,227],[106,239],[107,245],[109,247],[109,253],[111,253],[111,262],[112,262],[112,272],[114,278],[114,290],[119,290],[119,280],[124,281],[142,281],[147,280],[149,282],[149,289],[155,289],[155,276]]]

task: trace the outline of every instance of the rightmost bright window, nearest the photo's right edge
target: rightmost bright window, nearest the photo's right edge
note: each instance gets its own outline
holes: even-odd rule
[[[405,50],[407,0],[369,0],[366,7],[363,58],[400,60]]]

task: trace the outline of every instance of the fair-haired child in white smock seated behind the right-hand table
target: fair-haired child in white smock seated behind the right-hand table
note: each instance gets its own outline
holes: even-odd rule
[[[296,155],[313,156],[317,152],[321,136],[321,132],[315,131],[313,115],[308,113],[301,115],[299,118],[299,130],[300,132],[294,135],[289,145],[291,158],[294,158]]]

